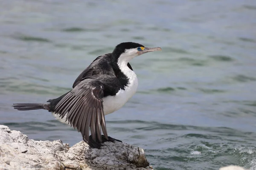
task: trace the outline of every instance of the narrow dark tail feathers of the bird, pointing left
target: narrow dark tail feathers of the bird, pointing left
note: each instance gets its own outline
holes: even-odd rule
[[[49,110],[49,104],[44,104],[44,103],[16,103],[16,104],[13,104],[13,108],[17,109],[18,111],[29,111],[29,110],[38,110],[38,109]]]

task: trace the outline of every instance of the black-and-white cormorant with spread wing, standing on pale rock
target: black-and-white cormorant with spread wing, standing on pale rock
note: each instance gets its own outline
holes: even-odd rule
[[[160,47],[147,48],[135,42],[122,42],[112,53],[93,60],[66,94],[49,99],[47,103],[16,103],[12,106],[19,111],[44,109],[52,112],[60,122],[77,129],[92,148],[100,148],[104,142],[122,142],[108,136],[105,115],[122,108],[137,91],[138,78],[129,63],[131,59],[161,50]]]

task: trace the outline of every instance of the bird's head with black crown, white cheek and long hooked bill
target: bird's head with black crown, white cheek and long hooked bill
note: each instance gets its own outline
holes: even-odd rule
[[[135,43],[135,42],[122,42],[116,45],[116,48],[113,51],[113,59],[116,62],[128,63],[134,57],[137,57],[141,54],[145,54],[152,51],[161,51],[160,47],[148,48],[144,45]]]

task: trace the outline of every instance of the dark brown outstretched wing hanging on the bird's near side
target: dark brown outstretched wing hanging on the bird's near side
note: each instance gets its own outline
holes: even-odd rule
[[[89,141],[89,130],[94,141],[96,138],[102,142],[101,128],[104,136],[108,138],[102,98],[104,86],[93,79],[79,82],[55,107],[55,113],[60,114],[70,125],[81,132],[83,138]]]

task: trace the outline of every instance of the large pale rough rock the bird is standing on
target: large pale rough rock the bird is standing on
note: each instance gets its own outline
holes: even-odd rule
[[[35,141],[0,125],[0,170],[152,170],[140,147],[105,142],[91,149],[58,141]]]

